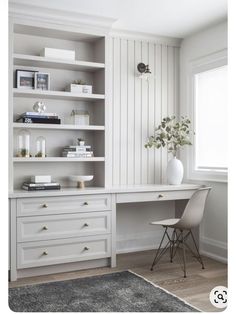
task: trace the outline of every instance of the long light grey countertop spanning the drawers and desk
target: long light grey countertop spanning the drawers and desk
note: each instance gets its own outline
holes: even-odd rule
[[[45,197],[45,196],[76,196],[89,194],[119,194],[119,193],[135,193],[135,192],[163,192],[163,191],[183,191],[197,190],[201,185],[197,184],[180,184],[180,185],[165,185],[165,184],[142,184],[142,185],[119,185],[112,187],[87,187],[85,189],[78,188],[62,188],[55,191],[25,191],[15,190],[9,193],[9,198],[23,197]]]

